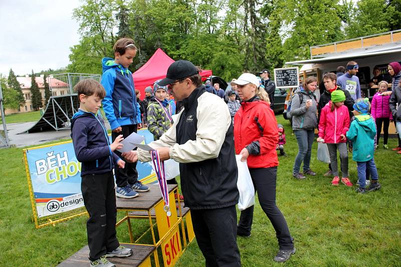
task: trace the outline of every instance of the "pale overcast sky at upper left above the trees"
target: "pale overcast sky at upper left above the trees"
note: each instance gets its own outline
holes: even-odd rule
[[[0,73],[31,73],[69,63],[79,42],[72,19],[79,0],[0,0]]]

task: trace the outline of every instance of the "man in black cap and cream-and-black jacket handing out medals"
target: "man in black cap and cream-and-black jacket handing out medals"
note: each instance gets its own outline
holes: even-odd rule
[[[206,266],[241,266],[236,240],[238,170],[227,104],[206,93],[199,69],[187,60],[173,62],[158,84],[168,85],[184,109],[172,127],[149,145],[158,150],[160,160],[179,162],[184,203],[191,210]],[[127,161],[150,160],[142,149],[123,156]]]

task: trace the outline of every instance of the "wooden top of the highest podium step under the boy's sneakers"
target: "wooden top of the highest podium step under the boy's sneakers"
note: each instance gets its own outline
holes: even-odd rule
[[[150,190],[147,192],[140,192],[138,197],[117,197],[117,210],[149,210],[160,200],[162,200],[160,187],[158,184],[147,184],[147,186],[149,186]],[[171,192],[176,187],[176,184],[167,184],[168,192]]]

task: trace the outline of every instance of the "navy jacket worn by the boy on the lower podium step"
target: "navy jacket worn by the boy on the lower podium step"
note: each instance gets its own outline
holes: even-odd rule
[[[81,109],[71,120],[71,138],[81,166],[81,176],[113,170],[119,158],[111,151],[103,118]]]

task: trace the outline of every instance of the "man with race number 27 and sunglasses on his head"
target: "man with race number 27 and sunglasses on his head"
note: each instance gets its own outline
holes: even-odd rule
[[[358,63],[349,61],[347,63],[347,72],[337,78],[337,85],[346,89],[351,94],[354,101],[361,97],[359,78],[356,76],[358,67]]]

